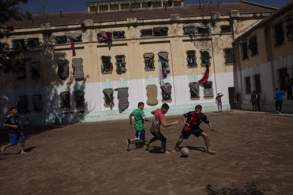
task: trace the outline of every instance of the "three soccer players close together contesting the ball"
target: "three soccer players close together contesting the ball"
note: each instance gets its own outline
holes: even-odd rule
[[[127,147],[129,148],[129,145],[134,142],[134,141],[141,141],[143,140],[143,143],[147,146],[147,148],[150,148],[150,144],[154,141],[160,140],[162,143],[162,148],[163,152],[165,154],[171,154],[176,151],[178,146],[181,144],[183,139],[188,139],[191,134],[195,135],[196,137],[203,137],[204,138],[204,143],[207,147],[207,151],[210,154],[215,154],[215,151],[212,151],[209,146],[209,140],[208,140],[208,135],[201,129],[199,128],[199,125],[201,122],[205,122],[208,124],[210,127],[211,131],[216,131],[216,129],[212,128],[211,122],[207,119],[206,115],[201,113],[202,107],[201,105],[195,106],[194,111],[187,112],[182,115],[183,119],[183,129],[181,131],[179,140],[176,142],[174,149],[170,152],[166,149],[166,141],[167,139],[162,135],[160,131],[160,126],[161,124],[164,127],[172,126],[179,124],[179,121],[174,121],[171,123],[167,123],[165,120],[165,114],[168,112],[169,106],[168,104],[163,104],[161,108],[158,108],[156,110],[153,110],[151,114],[154,115],[153,120],[150,121],[149,119],[146,118],[144,112],[144,103],[139,102],[138,103],[138,108],[135,109],[130,115],[129,115],[129,124],[132,125],[132,116],[134,116],[135,122],[134,122],[134,128],[136,129],[135,133],[135,138],[133,139],[127,139],[126,144]],[[150,128],[150,133],[154,136],[151,138],[149,141],[145,140],[145,130],[143,128],[143,122],[148,121],[152,123],[152,126]]]

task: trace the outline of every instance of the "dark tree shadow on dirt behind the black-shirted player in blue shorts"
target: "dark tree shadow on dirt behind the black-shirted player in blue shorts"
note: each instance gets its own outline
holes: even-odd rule
[[[53,129],[59,129],[65,126],[66,125],[30,127],[28,129],[22,129],[22,132],[24,133],[24,138],[28,140],[33,135],[40,134],[45,131],[52,131]],[[5,143],[8,144],[8,142],[9,142],[8,129],[0,129],[0,145]]]

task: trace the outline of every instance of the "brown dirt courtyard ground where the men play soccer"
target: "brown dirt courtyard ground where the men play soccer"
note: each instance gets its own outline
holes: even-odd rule
[[[171,114],[171,113],[170,113]],[[205,113],[208,154],[202,137],[190,136],[180,151],[163,154],[161,142],[130,144],[134,125],[129,120],[76,123],[24,129],[20,144],[0,155],[2,195],[11,194],[292,194],[293,119],[246,112]],[[166,114],[166,121],[180,124],[161,127],[171,150],[183,128],[181,115]],[[133,120],[134,123],[134,120]],[[152,138],[145,122],[146,139]],[[0,132],[0,144],[8,144],[8,130]]]

